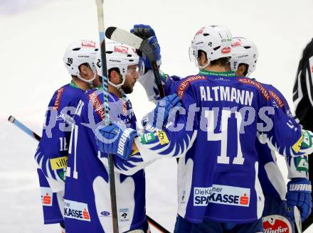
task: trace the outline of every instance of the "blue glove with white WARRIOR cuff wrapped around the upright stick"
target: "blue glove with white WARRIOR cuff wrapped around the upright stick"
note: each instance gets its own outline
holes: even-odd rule
[[[115,154],[124,160],[129,158],[137,131],[113,123],[100,126],[97,131],[96,142],[102,153]]]

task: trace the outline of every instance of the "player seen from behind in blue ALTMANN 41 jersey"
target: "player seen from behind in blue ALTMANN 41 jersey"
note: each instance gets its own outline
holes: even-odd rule
[[[113,143],[98,141],[100,150],[107,153],[127,159],[134,141],[147,163],[181,157],[174,232],[262,232],[264,200],[255,141],[259,139],[285,156],[299,156],[313,149],[312,143],[302,142],[303,136],[311,139],[312,134],[301,131],[273,105],[260,82],[237,78],[230,71],[231,45],[230,32],[222,26],[203,27],[196,33],[190,55],[200,72],[170,87],[185,109],[174,124],[169,121],[165,127],[168,106],[174,105],[170,95],[148,114],[149,132],[135,139],[114,124],[115,128],[100,128],[105,138],[117,139]],[[160,122],[165,124],[160,126]],[[226,182],[216,185],[214,173],[226,169],[223,166],[228,168],[228,173],[223,173]],[[228,205],[218,205],[217,209],[215,202]]]

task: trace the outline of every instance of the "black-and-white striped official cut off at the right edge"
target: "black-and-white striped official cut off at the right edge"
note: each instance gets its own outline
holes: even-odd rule
[[[313,39],[309,41],[302,52],[299,61],[295,85],[293,87],[293,102],[295,104],[295,117],[304,129],[313,131]],[[308,156],[308,166],[313,167],[313,159]],[[311,163],[311,166],[309,165]],[[313,180],[313,173],[309,173],[309,180]],[[302,229],[313,224],[313,214],[302,223]]]

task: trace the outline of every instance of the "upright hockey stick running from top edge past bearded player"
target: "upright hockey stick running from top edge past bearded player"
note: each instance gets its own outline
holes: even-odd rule
[[[102,62],[102,87],[103,87],[103,104],[105,106],[105,124],[110,124],[109,118],[109,90],[107,87],[107,58],[105,52],[105,19],[103,16],[103,0],[96,0],[97,4],[97,19],[100,39],[100,53]],[[109,164],[109,180],[110,180],[110,195],[112,209],[112,224],[113,232],[119,232],[119,223],[117,219],[117,201],[115,190],[115,173],[114,173],[114,158],[112,154],[108,154]]]

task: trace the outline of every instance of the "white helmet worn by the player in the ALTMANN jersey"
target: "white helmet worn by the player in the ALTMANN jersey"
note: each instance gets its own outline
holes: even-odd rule
[[[196,67],[204,69],[210,65],[212,60],[231,57],[232,41],[231,33],[226,27],[206,26],[200,28],[191,40],[189,58],[195,62]],[[208,62],[203,66],[198,65],[199,50],[203,50],[208,58]]]

